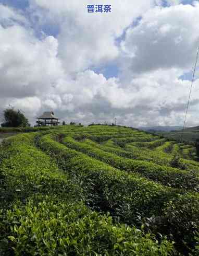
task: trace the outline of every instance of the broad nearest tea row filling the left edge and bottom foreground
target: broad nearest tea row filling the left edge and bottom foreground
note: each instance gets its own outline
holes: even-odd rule
[[[78,180],[33,146],[36,135],[9,138],[1,147],[1,256],[172,253],[166,239],[89,210]]]

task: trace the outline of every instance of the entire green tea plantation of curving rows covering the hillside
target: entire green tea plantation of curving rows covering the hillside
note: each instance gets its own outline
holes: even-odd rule
[[[122,126],[17,132],[0,146],[1,256],[199,255],[192,146]]]

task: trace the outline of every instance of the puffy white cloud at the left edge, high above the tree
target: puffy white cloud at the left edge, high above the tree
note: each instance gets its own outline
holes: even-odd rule
[[[35,96],[64,76],[54,37],[39,40],[19,25],[0,25],[0,37],[0,97]]]

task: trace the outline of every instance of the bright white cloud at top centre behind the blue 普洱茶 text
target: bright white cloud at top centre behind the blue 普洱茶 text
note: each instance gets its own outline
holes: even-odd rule
[[[136,17],[153,7],[154,0],[140,0],[133,4],[129,0],[115,0],[109,14],[88,14],[87,4],[107,4],[106,0],[32,0],[33,16],[39,23],[56,20],[59,29],[59,57],[68,72],[84,71],[118,57],[116,38],[131,25]],[[45,16],[44,16],[45,14]],[[44,19],[45,17],[45,19]],[[125,17],[125,18],[124,18]]]

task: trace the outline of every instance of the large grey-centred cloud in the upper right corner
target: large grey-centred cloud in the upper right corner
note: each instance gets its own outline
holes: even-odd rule
[[[199,41],[198,17],[198,4],[149,10],[121,42],[129,68],[134,73],[160,67],[190,69]]]

